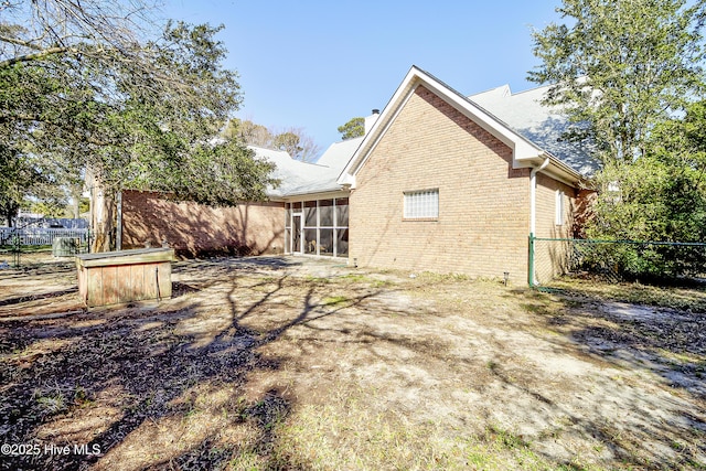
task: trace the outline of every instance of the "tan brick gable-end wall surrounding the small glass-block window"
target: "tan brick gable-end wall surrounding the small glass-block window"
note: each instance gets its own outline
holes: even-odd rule
[[[356,175],[350,259],[361,266],[527,279],[528,169],[419,86]],[[439,189],[438,221],[403,221],[403,192]],[[552,213],[554,214],[554,213]]]

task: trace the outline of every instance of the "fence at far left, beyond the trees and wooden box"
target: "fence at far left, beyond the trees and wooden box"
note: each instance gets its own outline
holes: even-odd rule
[[[90,248],[87,228],[0,227],[0,269],[72,261]]]

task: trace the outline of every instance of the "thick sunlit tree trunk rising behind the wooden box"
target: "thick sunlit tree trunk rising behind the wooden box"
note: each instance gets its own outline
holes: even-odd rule
[[[92,175],[87,176],[90,188],[90,228],[93,231],[90,251],[110,251],[115,249],[117,215],[115,192],[99,176],[90,173]]]

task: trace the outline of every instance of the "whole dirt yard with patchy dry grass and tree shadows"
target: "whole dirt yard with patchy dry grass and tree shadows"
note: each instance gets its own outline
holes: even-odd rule
[[[73,264],[0,270],[1,468],[706,469],[704,291],[296,258],[173,281],[86,311]]]

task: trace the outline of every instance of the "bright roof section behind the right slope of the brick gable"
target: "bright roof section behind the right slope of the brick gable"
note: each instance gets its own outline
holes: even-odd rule
[[[569,120],[559,108],[542,105],[548,89],[547,85],[513,94],[503,85],[468,98],[582,175],[595,173],[598,162],[591,157],[592,149],[564,140]]]

